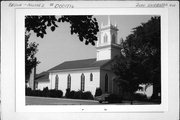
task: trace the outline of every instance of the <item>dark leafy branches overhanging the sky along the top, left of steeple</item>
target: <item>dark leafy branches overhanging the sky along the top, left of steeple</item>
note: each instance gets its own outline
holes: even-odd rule
[[[87,16],[26,16],[26,31],[34,31],[37,37],[43,38],[47,27],[54,31],[58,22],[69,22],[71,34],[77,34],[80,41],[85,40],[85,44],[95,45],[97,32],[99,31],[96,18],[92,15]]]

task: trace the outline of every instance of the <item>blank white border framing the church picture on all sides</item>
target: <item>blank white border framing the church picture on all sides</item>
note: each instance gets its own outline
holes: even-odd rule
[[[72,13],[73,11],[73,13]],[[104,12],[108,11],[108,12]],[[165,8],[16,9],[16,112],[165,112],[168,111],[168,10]],[[26,15],[159,15],[161,16],[160,105],[26,105],[25,16]],[[163,79],[163,80],[162,80]]]

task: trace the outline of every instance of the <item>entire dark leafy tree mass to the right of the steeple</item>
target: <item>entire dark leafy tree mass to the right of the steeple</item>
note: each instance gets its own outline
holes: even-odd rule
[[[160,17],[133,28],[132,34],[121,43],[121,53],[115,58],[112,70],[129,82],[131,94],[139,84],[153,84],[154,96],[161,90]]]

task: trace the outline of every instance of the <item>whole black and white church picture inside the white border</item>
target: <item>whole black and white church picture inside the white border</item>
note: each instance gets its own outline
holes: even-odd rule
[[[161,104],[161,16],[25,16],[26,105]]]

